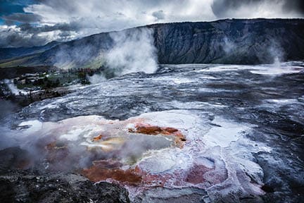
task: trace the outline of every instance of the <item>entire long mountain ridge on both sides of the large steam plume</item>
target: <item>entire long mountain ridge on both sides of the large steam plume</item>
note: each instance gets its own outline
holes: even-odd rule
[[[159,63],[258,64],[272,63],[276,58],[281,61],[304,59],[304,19],[163,23],[135,27],[127,32],[145,27],[153,30]],[[23,50],[20,51],[23,57],[12,60],[8,59],[10,56],[5,49],[0,49],[0,59],[5,59],[0,66],[68,64],[71,67],[95,68],[104,63],[103,54],[112,46],[110,32],[103,32],[54,44],[45,50],[37,48],[36,52],[15,48],[15,52]],[[58,63],[58,59],[63,60],[62,63]]]

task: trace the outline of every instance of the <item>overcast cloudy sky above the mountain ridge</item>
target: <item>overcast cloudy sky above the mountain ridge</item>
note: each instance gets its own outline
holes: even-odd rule
[[[0,47],[32,47],[153,23],[303,17],[304,0],[0,0]]]

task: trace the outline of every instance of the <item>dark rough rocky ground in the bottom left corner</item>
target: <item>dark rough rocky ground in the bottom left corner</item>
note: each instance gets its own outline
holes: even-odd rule
[[[28,156],[19,147],[0,151],[1,202],[129,202],[127,190],[119,185],[92,183],[76,173],[19,169]]]

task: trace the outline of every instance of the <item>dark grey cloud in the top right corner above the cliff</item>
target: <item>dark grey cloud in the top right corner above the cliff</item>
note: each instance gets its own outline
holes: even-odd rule
[[[234,18],[234,11],[242,6],[247,8],[253,8],[261,4],[270,5],[282,5],[281,10],[286,13],[298,13],[300,16],[304,16],[304,1],[303,0],[214,0],[211,8],[217,18]],[[272,8],[270,7],[271,11]],[[244,16],[250,13],[243,13]],[[279,13],[278,13],[279,14]],[[284,13],[283,13],[284,14]]]

